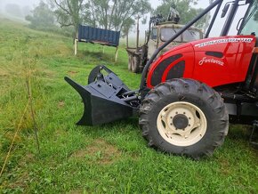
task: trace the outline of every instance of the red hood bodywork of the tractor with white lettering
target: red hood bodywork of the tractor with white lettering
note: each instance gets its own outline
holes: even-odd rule
[[[181,58],[170,63],[161,72],[161,82],[168,79],[170,69],[181,61],[184,62],[182,77],[199,80],[211,87],[244,82],[255,41],[254,36],[222,36],[174,47],[149,67],[147,86],[155,86],[151,85],[151,77],[153,79],[157,74],[155,71],[162,65],[161,62],[178,54]]]

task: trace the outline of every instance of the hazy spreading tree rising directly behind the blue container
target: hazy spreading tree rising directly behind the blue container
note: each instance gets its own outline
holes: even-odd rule
[[[85,23],[93,27],[128,33],[134,24],[133,18],[142,17],[151,11],[149,0],[92,0],[85,4]]]

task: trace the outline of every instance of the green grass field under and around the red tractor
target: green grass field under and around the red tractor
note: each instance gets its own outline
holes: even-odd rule
[[[212,158],[194,161],[149,149],[138,118],[108,125],[77,126],[83,104],[64,80],[86,84],[95,65],[113,69],[130,88],[140,75],[127,71],[121,48],[79,44],[0,19],[0,166],[28,101],[31,72],[40,150],[30,112],[20,125],[0,177],[0,193],[258,193],[258,150],[248,144],[248,126],[230,133]]]

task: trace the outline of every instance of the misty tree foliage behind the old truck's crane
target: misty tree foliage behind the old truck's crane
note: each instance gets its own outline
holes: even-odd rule
[[[180,23],[186,24],[194,17],[202,12],[203,9],[194,8],[192,5],[198,4],[198,0],[162,0],[162,4],[157,6],[154,14],[162,14],[164,17],[170,12],[171,5],[174,4],[176,10],[180,12]],[[196,26],[202,28],[206,22],[206,17],[203,17],[196,23]]]

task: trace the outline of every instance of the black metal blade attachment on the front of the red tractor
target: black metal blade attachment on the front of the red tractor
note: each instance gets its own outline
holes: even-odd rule
[[[101,71],[108,75],[104,76]],[[105,66],[97,66],[89,76],[89,85],[78,85],[69,77],[65,80],[77,90],[85,109],[77,125],[101,125],[133,116],[138,100],[137,92],[129,88]]]

